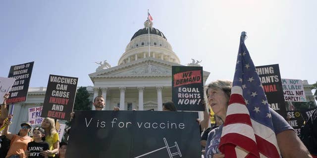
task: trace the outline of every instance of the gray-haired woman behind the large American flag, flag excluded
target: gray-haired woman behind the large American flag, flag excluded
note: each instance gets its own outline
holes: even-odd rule
[[[224,122],[231,94],[231,81],[216,80],[207,86],[206,94],[209,105],[215,115]],[[283,158],[311,158],[304,144],[295,134],[294,129],[276,112],[270,109],[277,144]],[[211,130],[206,145],[205,158],[224,158],[218,150],[222,126]],[[268,149],[269,150],[269,149]]]

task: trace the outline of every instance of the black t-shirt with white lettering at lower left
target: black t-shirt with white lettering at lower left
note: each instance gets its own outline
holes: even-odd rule
[[[30,151],[30,156],[28,158],[44,158],[41,156],[40,152],[42,150],[49,150],[49,144],[47,142],[36,143],[35,141],[28,143],[28,151]]]

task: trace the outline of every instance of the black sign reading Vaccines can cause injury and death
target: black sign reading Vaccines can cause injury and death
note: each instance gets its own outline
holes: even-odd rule
[[[41,117],[70,120],[77,82],[78,78],[50,75]]]

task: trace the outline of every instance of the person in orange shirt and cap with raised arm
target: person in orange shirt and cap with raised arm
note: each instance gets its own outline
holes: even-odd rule
[[[12,118],[12,115],[9,115],[8,118]],[[21,123],[20,135],[10,133],[9,126],[10,123],[3,130],[6,138],[11,140],[10,148],[5,158],[26,158],[24,151],[28,143],[32,141],[32,138],[28,136],[32,128],[31,124],[29,122]]]

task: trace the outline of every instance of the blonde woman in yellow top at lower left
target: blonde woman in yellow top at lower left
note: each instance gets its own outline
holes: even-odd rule
[[[53,118],[44,118],[41,127],[45,130],[45,142],[49,144],[49,150],[41,151],[41,154],[47,153],[49,158],[54,158],[59,148],[59,137],[55,128]]]

